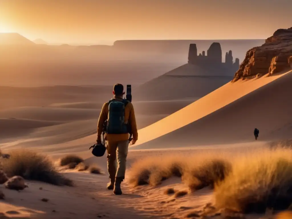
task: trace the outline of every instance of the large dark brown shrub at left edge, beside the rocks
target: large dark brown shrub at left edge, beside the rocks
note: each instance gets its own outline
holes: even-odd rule
[[[70,185],[72,181],[58,173],[48,157],[30,150],[14,150],[9,159],[1,160],[8,177],[22,176],[27,180],[37,180],[53,185]]]

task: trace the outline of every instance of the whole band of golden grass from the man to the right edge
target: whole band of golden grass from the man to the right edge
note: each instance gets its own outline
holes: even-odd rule
[[[173,166],[175,168],[173,168]],[[292,150],[277,147],[240,153],[197,153],[189,157],[148,157],[129,171],[133,186],[158,185],[177,171],[191,191],[213,187],[216,209],[264,213],[292,204]],[[180,174],[178,174],[180,175]]]

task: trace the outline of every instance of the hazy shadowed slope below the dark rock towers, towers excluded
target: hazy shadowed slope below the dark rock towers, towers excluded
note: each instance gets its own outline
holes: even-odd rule
[[[201,98],[233,79],[214,68],[185,64],[133,89],[141,100]]]

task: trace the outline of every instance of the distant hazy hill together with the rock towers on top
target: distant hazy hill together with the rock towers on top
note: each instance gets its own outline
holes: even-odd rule
[[[135,89],[139,100],[178,100],[201,98],[233,79],[239,59],[233,63],[232,51],[222,62],[220,43],[212,43],[197,55],[196,44],[189,44],[188,63],[154,78]]]

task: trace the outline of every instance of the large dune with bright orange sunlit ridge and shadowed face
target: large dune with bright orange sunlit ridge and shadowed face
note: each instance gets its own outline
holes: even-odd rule
[[[260,130],[260,139],[279,138],[281,129],[281,137],[288,137],[291,134],[291,81],[290,71],[274,77],[228,83],[139,130],[139,142],[133,148],[253,140],[256,127]]]

